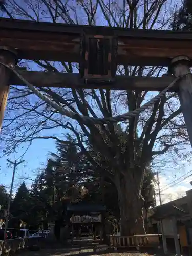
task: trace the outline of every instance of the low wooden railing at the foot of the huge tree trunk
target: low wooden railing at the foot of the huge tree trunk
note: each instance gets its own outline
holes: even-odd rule
[[[160,234],[145,234],[133,237],[110,235],[110,244],[113,247],[158,247]]]

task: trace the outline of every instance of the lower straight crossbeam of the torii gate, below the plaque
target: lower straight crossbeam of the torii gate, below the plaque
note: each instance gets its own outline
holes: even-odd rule
[[[38,72],[18,70],[18,72],[31,84],[37,87],[62,87],[62,88],[85,88],[85,89],[112,89],[112,90],[142,90],[142,91],[162,91],[173,80],[173,76],[162,77],[137,77],[137,76],[117,76],[110,84],[86,84],[80,79],[79,74]],[[24,85],[17,76],[12,76],[9,84]],[[177,88],[172,89],[176,91]]]

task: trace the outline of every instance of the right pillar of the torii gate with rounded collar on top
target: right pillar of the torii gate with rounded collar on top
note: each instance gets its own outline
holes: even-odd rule
[[[184,76],[179,82],[179,100],[183,112],[186,128],[192,146],[192,75],[190,72],[191,60],[187,56],[178,56],[172,60],[171,72],[176,76]],[[188,74],[188,75],[187,75]]]

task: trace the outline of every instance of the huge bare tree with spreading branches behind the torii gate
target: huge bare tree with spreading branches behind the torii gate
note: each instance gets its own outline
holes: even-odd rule
[[[4,5],[3,15],[10,18],[44,20],[53,23],[105,25],[123,28],[167,29],[173,2],[168,0],[10,0]],[[48,61],[21,62],[28,68],[53,72],[73,72],[74,63]],[[118,73],[135,76],[159,76],[163,67],[118,67]],[[39,81],[40,82],[40,81]],[[153,95],[147,91],[112,91],[83,89],[39,88],[53,101],[71,112],[88,117],[112,117],[137,109]],[[102,169],[118,191],[121,215],[121,232],[124,235],[144,233],[143,197],[141,188],[145,168],[162,154],[177,154],[187,145],[185,125],[178,99],[167,93],[142,114],[120,123],[123,140],[116,124],[97,124],[83,119],[71,120],[61,116],[45,102],[34,96],[25,86],[11,87],[1,146],[4,154],[15,150],[24,142],[34,139],[63,139],[61,128],[78,140],[79,146],[96,169]],[[57,130],[56,130],[57,129]],[[55,131],[58,131],[55,135]],[[124,138],[125,136],[125,138]],[[100,154],[99,166],[84,141],[89,140],[95,152]]]

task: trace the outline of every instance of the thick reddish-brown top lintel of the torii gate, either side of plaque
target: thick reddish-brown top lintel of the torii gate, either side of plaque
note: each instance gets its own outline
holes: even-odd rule
[[[192,59],[192,33],[66,25],[0,18],[0,47],[18,50],[20,59],[80,62],[81,34],[118,40],[118,65],[169,66],[175,56]]]

